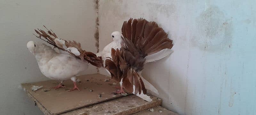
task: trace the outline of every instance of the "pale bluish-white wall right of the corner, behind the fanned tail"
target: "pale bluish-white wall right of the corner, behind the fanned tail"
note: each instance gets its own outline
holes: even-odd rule
[[[147,64],[143,76],[156,86],[164,107],[180,115],[255,115],[255,4],[101,0],[100,50],[124,20],[156,21],[174,41],[174,52]]]

